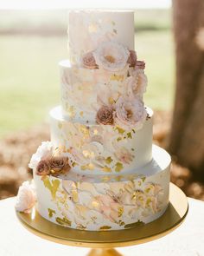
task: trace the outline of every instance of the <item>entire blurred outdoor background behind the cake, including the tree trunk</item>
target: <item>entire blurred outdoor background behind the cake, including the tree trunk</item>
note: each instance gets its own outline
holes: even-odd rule
[[[136,10],[135,49],[146,62],[154,142],[172,155],[172,181],[204,200],[203,0],[135,2],[119,8]],[[30,156],[49,140],[48,111],[60,103],[58,62],[68,57],[67,9],[84,7],[74,4],[0,2],[0,199],[31,179]]]

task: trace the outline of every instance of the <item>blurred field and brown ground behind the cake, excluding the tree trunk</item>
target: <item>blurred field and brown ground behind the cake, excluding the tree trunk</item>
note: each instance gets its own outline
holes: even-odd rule
[[[171,18],[171,9],[135,14],[135,49],[149,81],[144,100],[155,110],[154,141],[163,148],[175,95]],[[31,178],[29,158],[49,139],[48,111],[60,103],[58,62],[67,57],[67,10],[0,10],[0,199]],[[204,200],[201,182],[175,161],[172,181]]]

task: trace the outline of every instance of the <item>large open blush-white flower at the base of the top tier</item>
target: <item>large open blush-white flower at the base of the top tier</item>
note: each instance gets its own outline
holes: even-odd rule
[[[99,68],[115,72],[127,65],[130,51],[120,43],[109,41],[101,43],[93,56]]]

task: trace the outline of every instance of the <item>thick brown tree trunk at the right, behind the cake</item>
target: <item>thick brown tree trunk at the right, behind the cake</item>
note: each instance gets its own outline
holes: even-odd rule
[[[204,180],[204,0],[173,0],[173,15],[176,89],[169,152]]]

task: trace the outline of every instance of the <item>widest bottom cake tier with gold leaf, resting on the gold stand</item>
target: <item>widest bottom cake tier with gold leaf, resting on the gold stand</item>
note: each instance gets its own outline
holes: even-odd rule
[[[149,223],[168,207],[169,166],[169,154],[154,146],[152,161],[134,174],[34,174],[36,209],[49,221],[85,230]]]

